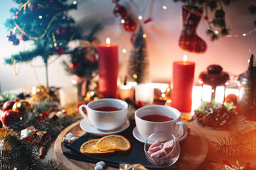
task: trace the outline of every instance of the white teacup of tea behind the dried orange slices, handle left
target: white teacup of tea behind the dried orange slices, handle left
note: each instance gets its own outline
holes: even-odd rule
[[[87,115],[83,113],[85,108]],[[100,130],[114,130],[119,128],[127,119],[128,104],[116,98],[102,98],[90,101],[87,105],[79,107],[82,117],[90,120],[90,123]],[[115,111],[114,111],[115,110]]]

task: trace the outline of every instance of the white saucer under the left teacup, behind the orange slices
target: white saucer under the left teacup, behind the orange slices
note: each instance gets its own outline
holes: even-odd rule
[[[110,130],[110,131],[103,131],[103,130],[97,129],[94,125],[90,123],[90,120],[84,118],[80,122],[80,127],[82,128],[82,130],[85,130],[86,132],[90,132],[93,135],[104,136],[104,135],[112,135],[118,132],[122,132],[123,130],[126,130],[129,127],[129,124],[130,124],[129,120],[126,120],[125,123],[117,129]]]

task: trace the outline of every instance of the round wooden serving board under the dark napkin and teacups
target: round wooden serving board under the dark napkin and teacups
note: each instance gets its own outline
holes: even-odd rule
[[[81,121],[81,120],[80,120]],[[87,162],[79,162],[73,159],[68,159],[63,155],[64,151],[67,151],[63,145],[63,137],[69,132],[72,132],[75,137],[80,137],[85,133],[80,128],[80,121],[73,123],[68,128],[65,128],[63,132],[58,135],[54,145],[54,157],[56,160],[61,162],[66,169],[94,169],[95,164]],[[183,142],[181,142],[181,156],[179,157],[178,169],[198,169],[199,166],[204,162],[208,154],[208,143],[206,137],[193,127],[188,124],[189,133]],[[112,167],[107,167],[110,170],[116,170]]]

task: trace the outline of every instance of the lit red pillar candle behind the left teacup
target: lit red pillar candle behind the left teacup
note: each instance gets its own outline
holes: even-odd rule
[[[97,45],[98,69],[100,74],[99,92],[105,98],[117,98],[117,76],[118,76],[118,45],[106,43]]]

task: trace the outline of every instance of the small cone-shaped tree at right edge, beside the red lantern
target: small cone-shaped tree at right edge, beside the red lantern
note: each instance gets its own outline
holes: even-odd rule
[[[240,102],[240,112],[247,115],[248,120],[256,120],[256,65],[255,57],[251,55],[247,69],[245,94]]]

